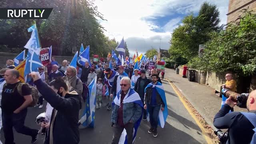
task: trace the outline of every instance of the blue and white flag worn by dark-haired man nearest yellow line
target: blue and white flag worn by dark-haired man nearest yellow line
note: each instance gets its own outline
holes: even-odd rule
[[[168,116],[168,108],[167,108],[167,103],[166,103],[164,87],[160,82],[157,82],[156,85],[152,84],[152,82],[151,82],[150,84],[148,84],[146,86],[146,88],[144,90],[145,93],[146,93],[146,89],[150,86],[152,86],[152,88],[156,88],[158,94],[160,94],[160,96],[164,102],[164,111],[162,111],[160,109],[159,114],[158,114],[158,125],[161,126],[161,128],[164,128],[164,124],[165,124],[166,118]],[[161,107],[162,107],[162,105],[161,105]]]

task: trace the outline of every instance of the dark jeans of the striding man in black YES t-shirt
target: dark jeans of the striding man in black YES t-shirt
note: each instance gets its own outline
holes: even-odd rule
[[[12,127],[16,132],[34,137],[38,134],[38,130],[28,128],[24,126],[25,118],[27,115],[27,109],[20,111],[18,114],[9,112],[2,112],[2,122],[4,131],[4,144],[15,144]]]

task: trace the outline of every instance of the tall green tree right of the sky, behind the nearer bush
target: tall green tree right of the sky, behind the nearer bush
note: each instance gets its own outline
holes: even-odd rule
[[[219,11],[216,5],[204,2],[201,5],[198,16],[190,14],[182,20],[183,25],[179,25],[172,33],[170,40],[170,55],[182,56],[191,59],[198,56],[198,47],[210,40],[210,33],[220,31],[222,26]]]

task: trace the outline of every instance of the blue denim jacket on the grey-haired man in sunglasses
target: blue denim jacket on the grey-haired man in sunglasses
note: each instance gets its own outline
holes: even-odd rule
[[[117,116],[118,116],[118,109],[120,106],[117,104],[114,104],[112,114],[111,114],[111,122],[116,124],[117,122]],[[124,124],[127,124],[130,122],[130,120],[135,123],[137,120],[140,119],[142,116],[142,108],[139,104],[136,104],[134,102],[128,102],[124,103],[123,106],[123,120]]]

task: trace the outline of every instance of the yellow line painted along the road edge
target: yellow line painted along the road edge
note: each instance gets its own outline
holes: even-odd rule
[[[168,80],[168,79],[167,79]],[[204,126],[202,126],[202,124],[199,122],[199,120],[196,118],[196,116],[194,115],[194,113],[192,112],[192,110],[190,110],[190,108],[188,107],[188,105],[186,104],[186,102],[183,100],[182,96],[180,95],[180,92],[178,92],[176,90],[176,88],[174,87],[174,84],[172,84],[172,82],[170,82],[170,80],[168,80],[169,84],[172,86],[172,89],[174,90],[174,92],[178,95],[178,97],[180,98],[180,101],[182,102],[182,104],[184,105],[184,107],[187,109],[188,113],[192,116],[192,118],[196,121],[196,124],[198,125],[198,127],[202,130],[202,134],[204,135],[204,138],[206,140],[206,142],[208,144],[213,144],[212,139],[210,138],[210,136],[208,135],[208,133],[205,131]]]

